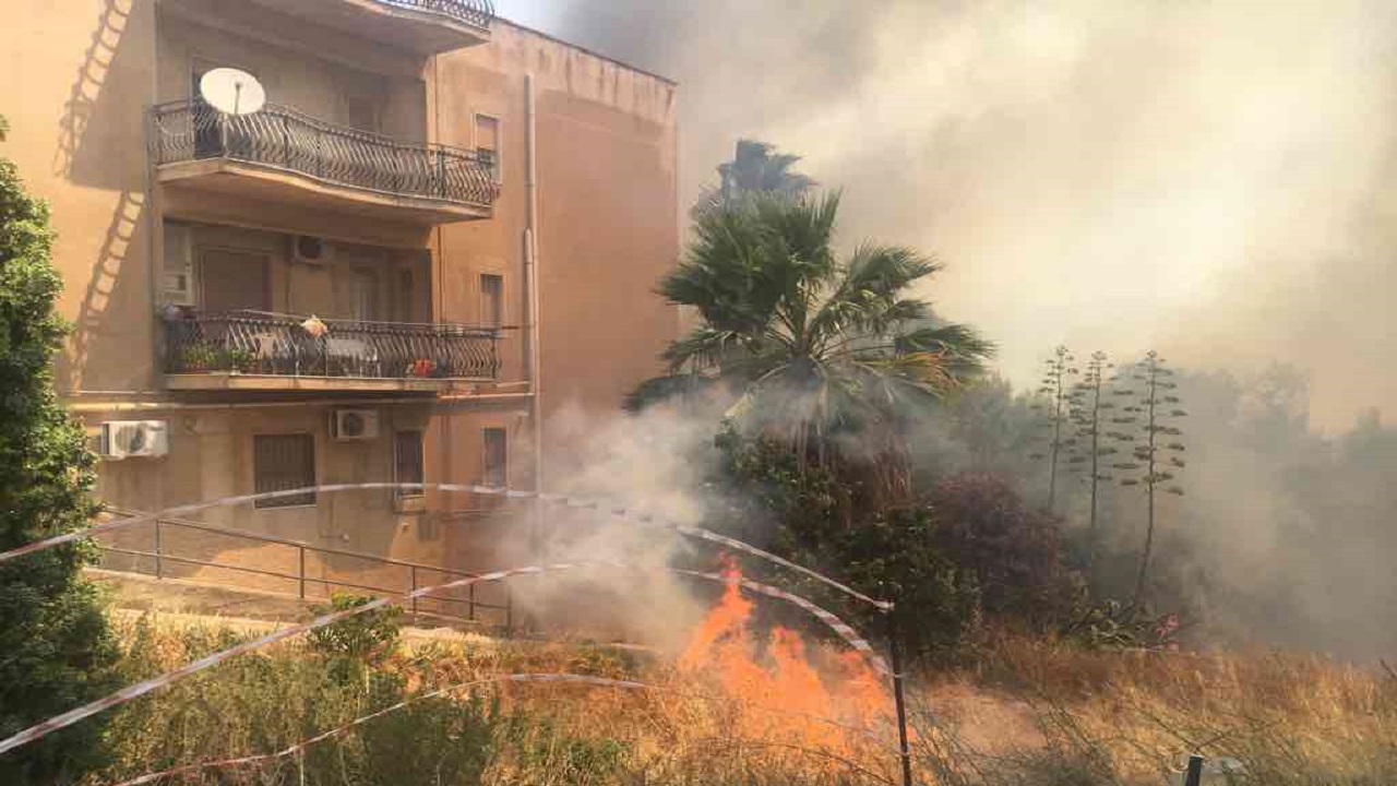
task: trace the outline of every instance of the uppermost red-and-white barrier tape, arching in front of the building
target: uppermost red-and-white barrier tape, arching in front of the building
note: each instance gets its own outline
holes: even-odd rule
[[[303,495],[303,494],[334,494],[334,492],[339,492],[339,491],[377,491],[377,490],[393,490],[393,491],[425,491],[425,490],[458,491],[458,492],[468,492],[468,494],[482,494],[482,495],[504,496],[507,499],[538,499],[539,502],[555,503],[555,505],[564,505],[567,508],[574,508],[574,509],[581,509],[581,510],[597,510],[597,512],[608,513],[608,515],[615,516],[615,517],[626,519],[629,522],[634,522],[637,524],[651,526],[651,527],[672,529],[672,530],[678,531],[679,534],[683,534],[683,536],[687,536],[687,537],[696,537],[696,538],[700,538],[700,540],[707,540],[710,543],[717,543],[717,544],[721,544],[721,545],[726,545],[728,548],[735,548],[738,551],[745,551],[747,554],[752,554],[753,557],[760,557],[761,559],[766,559],[767,562],[773,562],[775,565],[781,565],[784,568],[789,568],[791,571],[795,571],[798,573],[809,576],[809,578],[812,578],[812,579],[814,579],[814,580],[817,580],[820,583],[824,583],[824,585],[827,585],[827,586],[830,586],[833,589],[837,589],[837,590],[842,592],[844,594],[848,594],[849,597],[862,600],[863,603],[869,603],[869,604],[872,604],[872,606],[875,606],[875,607],[877,607],[877,608],[880,608],[883,611],[890,611],[893,608],[893,603],[891,601],[876,600],[876,599],[869,597],[869,596],[866,596],[866,594],[855,590],[854,587],[849,587],[849,586],[847,586],[847,585],[844,585],[841,582],[837,582],[837,580],[834,580],[834,579],[831,579],[831,578],[828,578],[828,576],[826,576],[826,575],[823,575],[823,573],[820,573],[817,571],[812,571],[810,568],[806,568],[803,565],[798,565],[795,562],[791,562],[789,559],[777,557],[775,554],[771,554],[770,551],[764,551],[761,548],[757,548],[756,545],[752,545],[752,544],[747,544],[747,543],[743,543],[740,540],[735,540],[735,538],[731,538],[731,537],[726,537],[726,536],[721,536],[721,534],[718,534],[715,531],[705,530],[703,527],[694,527],[694,526],[689,526],[689,524],[680,524],[678,522],[668,522],[668,520],[655,517],[651,513],[645,513],[643,510],[634,510],[634,509],[630,509],[630,508],[616,506],[616,505],[606,505],[606,503],[604,503],[601,501],[595,501],[595,499],[581,499],[581,498],[576,498],[576,496],[567,496],[567,495],[563,495],[563,494],[546,494],[546,492],[534,492],[534,491],[514,491],[514,490],[496,488],[496,487],[489,487],[489,485],[462,485],[462,484],[450,484],[450,483],[356,483],[356,484],[331,484],[331,485],[312,485],[312,487],[306,487],[306,488],[292,488],[292,490],[284,490],[284,491],[267,491],[267,492],[263,492],[263,494],[243,494],[243,495],[239,495],[239,496],[225,496],[225,498],[217,499],[214,502],[196,502],[196,503],[191,503],[191,505],[179,505],[176,508],[168,508],[165,510],[161,510],[159,513],[142,513],[140,516],[133,516],[130,519],[120,519],[120,520],[115,520],[115,522],[106,522],[106,523],[102,523],[102,524],[96,524],[96,526],[88,527],[85,530],[71,531],[71,533],[66,533],[66,534],[60,534],[60,536],[53,536],[53,537],[49,537],[49,538],[45,538],[45,540],[39,540],[39,541],[35,541],[35,543],[29,543],[29,544],[21,545],[20,548],[14,548],[11,551],[0,552],[0,564],[8,562],[8,561],[15,559],[18,557],[24,557],[25,554],[34,554],[36,551],[43,551],[46,548],[53,548],[53,547],[61,545],[64,543],[74,543],[74,541],[78,541],[78,540],[82,540],[82,538],[88,538],[88,537],[96,536],[96,534],[102,534],[102,533],[106,533],[106,531],[113,531],[113,530],[119,530],[119,529],[124,529],[124,527],[133,527],[136,524],[144,524],[144,523],[155,522],[158,519],[170,517],[170,516],[183,516],[183,515],[187,515],[187,513],[198,513],[201,510],[210,510],[212,508],[231,508],[231,506],[235,506],[235,505],[246,505],[249,502],[257,502],[257,501],[263,501],[263,499],[277,499],[277,498],[282,498],[282,496],[299,496],[299,495]]]

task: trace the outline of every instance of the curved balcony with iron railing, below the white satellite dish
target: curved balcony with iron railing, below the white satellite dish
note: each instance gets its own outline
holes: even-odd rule
[[[489,218],[500,194],[490,162],[472,151],[404,143],[285,106],[232,116],[180,101],[151,117],[152,155],[168,186],[419,225]]]

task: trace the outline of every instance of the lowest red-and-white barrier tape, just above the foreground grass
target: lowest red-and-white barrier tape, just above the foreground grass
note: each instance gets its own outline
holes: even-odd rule
[[[584,674],[503,674],[503,676],[489,677],[489,678],[485,678],[485,680],[474,680],[474,681],[469,681],[469,683],[460,683],[460,684],[455,684],[455,685],[447,685],[444,688],[437,688],[437,689],[429,691],[426,694],[415,695],[415,696],[412,696],[409,699],[404,699],[404,701],[401,701],[401,702],[398,702],[398,703],[395,703],[393,706],[387,706],[387,708],[383,708],[383,709],[380,709],[377,712],[373,712],[370,715],[365,715],[362,717],[356,717],[355,720],[351,720],[349,723],[345,723],[344,726],[339,726],[337,729],[331,729],[330,731],[326,731],[323,734],[316,734],[314,737],[310,737],[307,740],[302,740],[300,743],[296,743],[295,745],[291,745],[291,747],[284,748],[284,750],[277,751],[277,752],[249,755],[249,757],[237,757],[237,758],[228,758],[228,759],[217,759],[217,761],[205,761],[205,762],[198,762],[198,764],[189,764],[189,765],[183,765],[183,766],[176,766],[176,768],[165,769],[165,771],[161,771],[161,772],[151,772],[148,775],[141,775],[140,778],[133,778],[130,780],[122,780],[120,783],[113,783],[112,786],[142,786],[145,783],[155,783],[156,780],[161,780],[162,778],[173,778],[176,775],[187,775],[187,773],[191,773],[191,772],[201,772],[201,771],[205,771],[205,769],[224,769],[224,768],[231,768],[231,766],[247,766],[247,765],[253,765],[253,764],[261,764],[261,762],[265,762],[265,761],[274,761],[274,759],[278,759],[278,758],[285,758],[285,757],[289,757],[289,755],[295,755],[295,754],[298,754],[300,751],[305,751],[305,750],[310,748],[314,744],[319,744],[319,743],[323,743],[326,740],[338,737],[341,734],[346,734],[346,733],[352,731],[353,729],[356,729],[359,726],[363,726],[365,723],[369,723],[370,720],[376,720],[379,717],[386,716],[386,715],[391,715],[394,712],[400,712],[402,709],[407,709],[408,706],[411,706],[411,705],[414,705],[416,702],[426,701],[426,699],[436,698],[436,696],[441,696],[441,695],[451,694],[451,692],[455,692],[455,691],[464,691],[467,688],[475,688],[475,687],[479,687],[479,685],[492,685],[492,684],[500,684],[500,683],[576,683],[576,684],[595,685],[595,687],[602,687],[602,688],[620,688],[620,689],[629,689],[629,691],[662,691],[662,692],[666,692],[666,694],[682,695],[682,696],[693,696],[693,698],[704,698],[704,699],[712,698],[710,695],[689,694],[689,692],[685,692],[685,691],[672,691],[672,689],[668,689],[668,688],[661,688],[661,687],[655,687],[655,685],[647,685],[644,683],[636,683],[633,680],[610,680],[610,678],[606,678],[606,677],[588,677],[588,676],[584,676]],[[882,741],[882,736],[877,731],[872,730],[872,729],[865,729],[862,726],[852,726],[852,724],[848,724],[848,723],[840,723],[838,720],[834,720],[834,719],[830,719],[830,717],[820,717],[817,715],[810,715],[810,713],[806,713],[806,712],[791,712],[791,710],[775,709],[775,708],[761,708],[761,706],[757,706],[756,709],[763,710],[763,712],[773,712],[773,713],[778,713],[778,715],[789,715],[789,716],[793,716],[793,717],[803,717],[803,719],[807,719],[807,720],[816,720],[816,722],[826,723],[826,724],[830,724],[830,726],[834,726],[834,727],[838,727],[838,729],[844,729],[847,731],[856,731],[856,733],[868,736],[868,737],[870,737],[870,738],[873,738],[876,741]]]

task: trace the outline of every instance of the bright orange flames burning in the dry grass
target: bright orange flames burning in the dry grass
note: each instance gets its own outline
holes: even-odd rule
[[[886,729],[888,694],[859,653],[809,652],[814,648],[798,632],[780,627],[759,642],[740,569],[728,562],[722,575],[722,600],[690,636],[679,670],[715,681],[742,706],[732,719],[738,726],[733,731],[752,740],[848,752],[865,741],[851,727]]]

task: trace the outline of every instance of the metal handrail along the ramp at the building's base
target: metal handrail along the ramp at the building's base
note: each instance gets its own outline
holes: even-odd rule
[[[137,516],[141,515],[141,513],[137,513],[134,510],[120,510],[120,509],[108,509],[106,513],[112,515],[112,516],[117,516],[117,517],[124,517],[124,519],[137,517]],[[419,571],[426,571],[429,573],[441,573],[443,576],[446,576],[447,579],[451,579],[451,580],[455,580],[455,579],[474,579],[474,578],[479,578],[481,576],[481,573],[472,573],[472,572],[468,572],[468,571],[457,571],[457,569],[453,569],[453,568],[440,568],[440,566],[436,566],[436,565],[426,565],[426,564],[422,564],[422,562],[412,562],[412,561],[407,561],[407,559],[394,559],[394,558],[390,558],[390,557],[376,557],[376,555],[372,555],[372,554],[360,554],[360,552],[356,552],[356,551],[344,551],[344,550],[338,550],[338,548],[324,548],[324,547],[314,545],[314,544],[310,544],[310,543],[306,543],[306,541],[300,541],[300,540],[292,540],[292,538],[285,538],[285,537],[275,537],[275,536],[265,536],[265,534],[249,533],[249,531],[243,531],[243,530],[232,530],[232,529],[226,529],[226,527],[218,527],[218,526],[214,526],[214,524],[205,524],[203,522],[190,522],[190,520],[184,520],[184,519],[152,519],[151,523],[154,526],[154,537],[152,537],[154,550],[152,551],[141,551],[138,548],[123,548],[123,547],[117,547],[117,545],[108,545],[108,544],[103,544],[101,541],[96,544],[96,547],[98,547],[98,550],[101,550],[101,551],[103,551],[106,554],[122,554],[122,555],[129,555],[129,557],[145,557],[145,558],[151,558],[154,561],[155,578],[158,580],[165,579],[165,565],[166,564],[196,565],[196,566],[203,566],[203,568],[217,568],[217,569],[221,569],[221,571],[235,571],[235,572],[239,572],[239,573],[247,573],[247,575],[256,575],[256,576],[268,576],[268,578],[275,578],[275,579],[293,580],[293,582],[298,582],[298,587],[299,587],[298,596],[299,596],[300,600],[306,600],[306,597],[307,597],[307,593],[306,593],[307,585],[321,585],[326,589],[330,589],[330,587],[345,587],[345,589],[356,589],[356,590],[380,593],[380,594],[387,594],[387,596],[404,596],[404,594],[409,594],[412,592],[416,592],[419,589],[419,586],[418,586],[418,572]],[[170,554],[165,548],[165,538],[162,537],[163,536],[162,530],[169,529],[169,527],[182,529],[182,530],[203,531],[203,533],[217,534],[217,536],[221,536],[221,537],[235,537],[235,538],[249,540],[249,541],[260,543],[260,544],[285,545],[285,547],[289,547],[289,548],[296,548],[298,550],[298,565],[299,565],[299,568],[298,568],[296,573],[285,573],[285,572],[279,572],[279,571],[268,571],[268,569],[264,569],[264,568],[249,568],[246,565],[232,565],[232,564],[228,564],[228,562],[214,562],[214,561],[208,561],[208,559],[197,559],[197,558],[193,558],[193,557],[179,557],[179,555]],[[373,566],[379,566],[379,568],[383,568],[383,566],[387,566],[387,568],[404,568],[404,569],[408,571],[409,586],[408,586],[407,590],[404,590],[401,587],[398,587],[398,589],[394,589],[394,587],[381,587],[381,586],[374,586],[374,585],[360,585],[360,583],[348,582],[348,580],[338,580],[338,579],[327,579],[327,578],[310,576],[310,575],[306,573],[306,555],[307,554],[327,555],[327,557],[342,557],[342,558],[351,558],[351,559],[362,559],[362,561],[365,561],[365,562],[367,562],[367,564],[370,564]],[[443,603],[443,604],[460,604],[460,606],[465,606],[465,608],[467,608],[467,615],[465,617],[453,617],[453,615],[448,615],[448,614],[434,614],[437,617],[443,617],[443,618],[448,618],[448,620],[460,620],[460,621],[465,621],[465,622],[476,622],[478,621],[476,611],[482,610],[482,608],[485,608],[485,610],[495,610],[495,611],[503,611],[504,613],[504,628],[506,628],[506,631],[510,631],[510,629],[513,629],[513,625],[514,625],[514,597],[513,597],[513,593],[509,589],[509,585],[503,585],[503,586],[504,586],[504,603],[503,604],[476,600],[476,597],[475,597],[475,585],[471,585],[471,586],[467,587],[467,599],[465,600],[455,599],[455,597],[444,597],[444,596],[432,596],[427,600]],[[418,599],[412,599],[411,611],[412,611],[412,614],[420,614],[422,613],[419,610]]]

